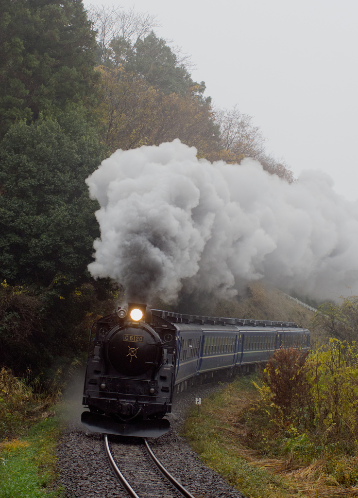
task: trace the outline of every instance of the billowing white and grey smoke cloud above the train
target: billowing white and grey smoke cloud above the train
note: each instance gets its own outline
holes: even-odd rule
[[[176,139],[117,150],[86,181],[101,231],[89,271],[128,300],[174,301],[182,286],[233,297],[261,278],[320,299],[358,293],[358,204],[322,172],[288,184],[252,159],[198,160]]]

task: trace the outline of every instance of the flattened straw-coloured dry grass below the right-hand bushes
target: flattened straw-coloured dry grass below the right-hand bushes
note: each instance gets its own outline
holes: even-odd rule
[[[266,471],[272,476],[277,476],[282,487],[265,490],[244,490],[241,484],[237,488],[247,496],[260,498],[277,498],[277,497],[308,497],[308,498],[334,498],[334,497],[357,497],[358,487],[344,487],[340,485],[334,476],[327,472],[327,461],[325,459],[316,459],[310,464],[304,464],[300,459],[296,459],[293,452],[286,458],[274,458],[273,455],[263,454],[261,449],[253,449],[248,445],[253,427],[243,423],[244,414],[247,414],[250,407],[257,399],[257,394],[253,390],[246,390],[243,385],[231,384],[223,392],[216,395],[215,398],[207,399],[202,405],[202,414],[200,421],[195,421],[195,416],[191,416],[187,421],[190,433],[189,439],[194,448],[203,447],[200,427],[203,427],[204,436],[215,435],[216,441],[219,441],[221,450],[227,455],[227,460],[234,458],[244,460],[250,467]],[[197,424],[197,425],[195,425]],[[208,429],[209,426],[209,429]],[[204,429],[205,427],[205,429]],[[261,429],[257,429],[259,431]],[[272,437],[272,434],[261,433],[262,438]],[[193,434],[197,432],[198,446],[195,447]],[[218,436],[219,434],[219,436]],[[200,439],[201,438],[201,439]],[[220,450],[220,451],[221,451]],[[204,450],[205,451],[205,450]],[[207,452],[206,452],[207,453]],[[267,453],[267,452],[266,452]],[[206,460],[209,466],[215,468],[215,460],[219,456],[212,457],[212,463]],[[218,470],[216,468],[216,470]],[[232,479],[228,474],[224,476],[229,482],[235,485],[237,476]],[[242,480],[241,480],[242,481]],[[241,482],[239,480],[239,482]]]

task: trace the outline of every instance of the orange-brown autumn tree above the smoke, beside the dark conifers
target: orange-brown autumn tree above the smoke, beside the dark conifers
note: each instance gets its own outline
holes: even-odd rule
[[[199,85],[190,87],[184,95],[166,95],[122,68],[101,66],[99,70],[101,105],[96,112],[102,139],[110,151],[180,138],[204,157],[217,146],[218,130],[213,124],[210,99],[202,98]]]

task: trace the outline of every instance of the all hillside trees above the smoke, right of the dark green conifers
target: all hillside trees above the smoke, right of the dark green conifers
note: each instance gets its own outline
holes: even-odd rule
[[[178,47],[156,36],[149,14],[119,7],[89,7],[97,30],[101,81],[95,111],[108,153],[179,138],[196,147],[199,158],[238,163],[261,162],[270,174],[294,180],[284,161],[266,152],[266,138],[251,116],[215,109],[204,97],[205,83],[192,80],[192,66]]]

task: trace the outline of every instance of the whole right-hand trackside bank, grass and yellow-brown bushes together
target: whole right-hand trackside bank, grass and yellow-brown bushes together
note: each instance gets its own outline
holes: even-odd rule
[[[279,350],[193,409],[184,435],[247,497],[358,496],[358,347]]]

